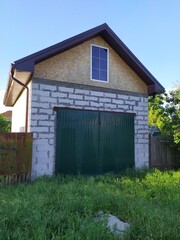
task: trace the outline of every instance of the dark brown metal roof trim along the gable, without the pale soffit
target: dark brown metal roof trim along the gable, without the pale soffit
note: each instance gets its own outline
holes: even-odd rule
[[[129,50],[129,48],[120,40],[120,38],[106,23],[78,34],[74,37],[71,37],[65,41],[57,43],[51,47],[31,54],[27,57],[19,59],[14,62],[12,67],[16,72],[30,72],[32,74],[34,72],[34,66],[36,63],[42,62],[45,59],[64,52],[96,36],[101,36],[129,65],[129,67],[131,67],[137,73],[137,75],[148,85],[149,95],[164,92],[164,87],[147,70],[147,68],[145,68],[145,66],[137,59],[137,57]],[[9,79],[9,83],[10,81],[11,80]],[[5,96],[7,95],[8,94],[6,93]]]

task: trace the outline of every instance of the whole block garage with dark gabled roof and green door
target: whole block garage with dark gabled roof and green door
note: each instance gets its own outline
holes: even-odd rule
[[[32,177],[149,165],[148,96],[163,86],[107,24],[11,65],[12,132],[33,133]]]

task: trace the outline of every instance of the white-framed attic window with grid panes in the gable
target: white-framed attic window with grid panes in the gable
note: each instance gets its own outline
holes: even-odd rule
[[[109,49],[91,45],[91,80],[109,81]]]

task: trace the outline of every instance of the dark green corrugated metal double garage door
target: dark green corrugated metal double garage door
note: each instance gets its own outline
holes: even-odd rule
[[[134,166],[134,114],[57,110],[56,173],[102,174]]]

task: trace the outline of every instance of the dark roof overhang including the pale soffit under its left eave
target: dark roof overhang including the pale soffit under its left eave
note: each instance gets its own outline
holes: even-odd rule
[[[101,36],[128,64],[128,66],[132,68],[134,72],[136,72],[136,74],[144,81],[144,83],[148,86],[149,95],[154,95],[165,91],[164,87],[147,70],[147,68],[145,68],[145,66],[137,59],[137,57],[129,50],[129,48],[119,39],[119,37],[106,23],[15,61],[12,65],[11,72],[13,70],[14,76],[19,81],[27,84],[30,77],[34,73],[35,64],[61,52],[67,51],[68,49],[97,36]],[[23,88],[18,86],[18,84],[13,81],[10,73],[8,87],[4,97],[4,104],[6,106],[13,106],[22,90]]]

